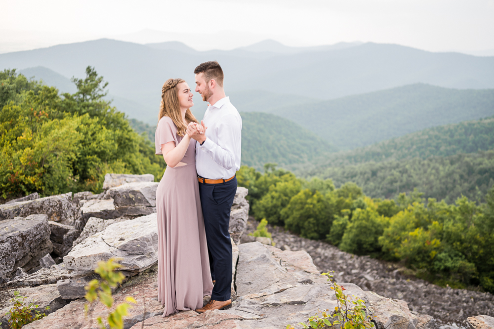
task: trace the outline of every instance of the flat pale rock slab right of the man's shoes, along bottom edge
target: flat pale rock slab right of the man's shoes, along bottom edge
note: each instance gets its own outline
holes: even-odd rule
[[[333,290],[305,251],[283,251],[258,242],[239,247],[236,287],[239,297],[225,311],[180,312],[147,319],[132,329],[145,328],[301,328],[307,317],[322,309],[334,309]],[[406,303],[363,291],[353,284],[341,284],[345,292],[364,299],[378,328],[432,328],[430,317],[410,312]],[[381,304],[386,308],[379,313]]]

